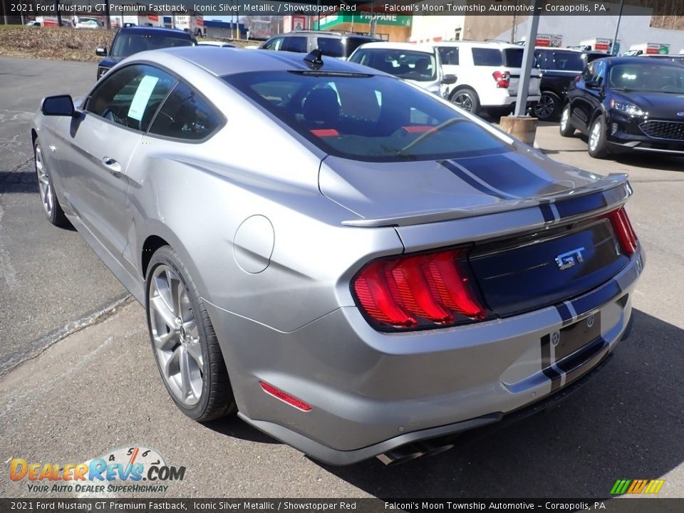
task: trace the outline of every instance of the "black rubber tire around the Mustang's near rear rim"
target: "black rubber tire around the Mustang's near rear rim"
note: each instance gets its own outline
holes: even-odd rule
[[[153,331],[153,326],[158,326],[156,324],[158,322],[156,317],[157,310],[155,309],[154,311],[155,324],[153,324],[150,303],[152,301],[158,301],[161,296],[157,290],[157,280],[160,280],[161,278],[160,276],[155,276],[155,274],[157,274],[157,272],[167,273],[167,271],[170,271],[170,274],[175,275],[176,285],[182,286],[182,288],[185,289],[185,296],[182,296],[182,291],[177,295],[178,306],[181,309],[184,309],[186,313],[187,309],[190,309],[192,319],[195,321],[198,339],[192,338],[192,343],[199,343],[202,350],[203,365],[202,368],[199,368],[198,366],[199,374],[202,379],[202,391],[199,394],[199,398],[195,395],[195,398],[197,398],[196,404],[188,404],[189,401],[183,401],[177,397],[179,390],[178,388],[174,388],[175,386],[177,387],[177,380],[167,378],[165,375],[165,371],[162,369],[164,363],[160,361],[160,358],[162,358],[162,351],[157,348],[157,344],[155,343],[155,331]],[[171,281],[172,280],[169,279],[170,284]],[[157,294],[155,294],[155,292],[152,292],[151,294],[150,292],[153,282],[155,282],[155,291],[157,291]],[[169,290],[170,289],[172,289],[172,286],[169,287]],[[183,299],[186,301],[185,305],[183,304]],[[190,276],[190,273],[188,273],[185,264],[183,264],[178,254],[170,246],[164,246],[157,249],[155,254],[152,255],[150,264],[147,267],[147,276],[145,278],[145,310],[147,312],[147,328],[150,332],[152,353],[157,362],[157,369],[159,370],[169,395],[174,403],[176,403],[177,407],[185,413],[185,415],[198,422],[207,422],[208,420],[224,417],[237,410],[228,377],[228,371],[223,359],[223,353],[219,346],[216,333],[214,332],[212,322],[209,319],[207,309],[205,309],[202,300],[199,299],[197,287],[195,286],[195,282],[192,281],[192,277]],[[183,316],[181,315],[180,318],[183,318]],[[173,340],[168,345],[172,346],[175,344],[175,348],[178,349],[179,346],[182,346],[184,343],[182,342],[183,338],[185,338],[185,341],[191,339],[188,335],[188,333],[190,333],[189,330],[185,332],[183,329],[182,332],[184,333],[182,337],[180,336],[181,331],[178,331],[179,335],[177,340]],[[185,351],[185,353],[190,355],[192,351]],[[191,361],[190,356],[187,356],[187,361]],[[188,365],[189,364],[186,363],[186,369],[188,368]],[[197,361],[195,361],[195,365],[197,365]],[[182,371],[179,370],[178,373],[180,375]],[[195,373],[195,375],[197,375],[197,373]]]

